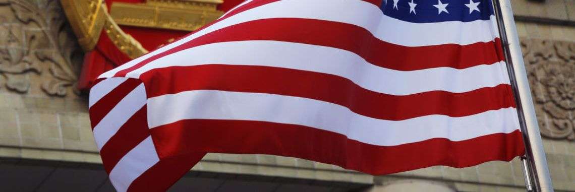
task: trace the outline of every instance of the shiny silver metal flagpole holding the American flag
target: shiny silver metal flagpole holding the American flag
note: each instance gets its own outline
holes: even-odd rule
[[[531,98],[531,89],[527,80],[527,72],[523,64],[523,54],[513,20],[511,2],[509,0],[493,0],[493,3],[525,143],[526,156],[521,159],[526,187],[528,191],[553,191]]]

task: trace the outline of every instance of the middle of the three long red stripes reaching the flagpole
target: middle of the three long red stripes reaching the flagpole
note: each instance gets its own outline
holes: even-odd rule
[[[431,114],[463,117],[515,107],[511,87],[507,84],[465,93],[428,91],[397,96],[364,89],[337,75],[220,64],[158,68],[144,73],[141,79],[144,79],[149,98],[189,90],[270,93],[336,103],[363,116],[385,120],[405,120]]]

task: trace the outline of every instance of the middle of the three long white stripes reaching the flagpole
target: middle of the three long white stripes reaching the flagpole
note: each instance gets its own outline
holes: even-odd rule
[[[266,53],[258,54],[260,50]],[[504,62],[464,70],[439,67],[397,71],[374,66],[355,53],[342,49],[281,41],[233,41],[202,45],[159,58],[127,76],[139,78],[141,73],[154,68],[202,64],[270,66],[321,72],[342,76],[365,89],[392,95],[434,90],[463,93],[481,87],[509,84]]]

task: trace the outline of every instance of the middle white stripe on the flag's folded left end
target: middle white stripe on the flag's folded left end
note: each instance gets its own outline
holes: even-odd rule
[[[132,90],[100,122],[94,127],[94,139],[98,149],[102,149],[104,144],[118,132],[130,117],[146,103],[144,84],[140,84]]]

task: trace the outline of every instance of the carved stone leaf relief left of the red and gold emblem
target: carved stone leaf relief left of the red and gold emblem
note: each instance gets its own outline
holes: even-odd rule
[[[73,90],[82,57],[65,22],[58,1],[0,0],[0,89],[60,97]],[[41,76],[39,87],[30,75]]]

